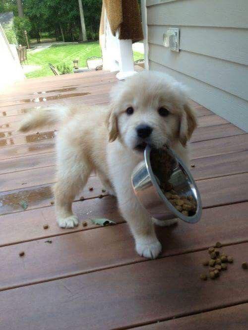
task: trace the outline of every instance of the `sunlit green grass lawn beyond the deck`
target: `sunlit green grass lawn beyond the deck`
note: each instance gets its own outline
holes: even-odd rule
[[[42,69],[36,70],[26,74],[27,78],[38,78],[52,76],[53,72],[49,68],[48,63],[58,65],[62,62],[72,65],[73,59],[79,59],[79,66],[85,67],[86,59],[91,56],[101,56],[101,49],[99,42],[89,42],[78,45],[66,45],[66,46],[53,46],[43,51],[32,54],[32,51],[27,53],[28,64],[40,65]],[[137,60],[143,58],[141,53],[134,52],[133,58]]]

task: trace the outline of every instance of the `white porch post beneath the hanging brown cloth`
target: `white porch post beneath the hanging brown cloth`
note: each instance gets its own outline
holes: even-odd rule
[[[111,33],[105,10],[104,40],[101,41],[103,55],[103,69],[119,71],[117,78],[122,80],[135,73],[133,66],[132,41],[120,40],[119,31],[116,36]]]

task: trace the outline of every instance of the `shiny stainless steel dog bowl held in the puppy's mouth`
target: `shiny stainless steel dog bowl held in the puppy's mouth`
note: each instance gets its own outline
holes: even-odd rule
[[[172,184],[173,189],[179,196],[193,197],[196,202],[195,214],[192,216],[183,215],[165,197],[152,171],[150,163],[151,147],[148,145],[144,151],[144,160],[134,168],[132,173],[131,181],[135,195],[140,204],[156,219],[180,218],[186,222],[195,223],[200,220],[202,212],[201,198],[197,186],[190,171],[176,153],[169,147],[166,152],[175,161],[168,182]]]

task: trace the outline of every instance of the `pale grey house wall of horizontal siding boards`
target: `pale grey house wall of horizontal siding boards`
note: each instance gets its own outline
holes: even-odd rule
[[[146,0],[149,69],[167,72],[190,97],[248,131],[248,0]],[[163,34],[180,28],[180,52]]]

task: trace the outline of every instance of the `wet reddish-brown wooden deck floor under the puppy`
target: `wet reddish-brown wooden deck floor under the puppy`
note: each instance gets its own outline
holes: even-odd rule
[[[160,259],[135,253],[116,200],[98,198],[96,176],[73,203],[79,226],[57,226],[56,131],[15,129],[34,106],[108,103],[115,83],[115,74],[97,71],[27,80],[0,96],[0,329],[247,329],[248,270],[241,263],[248,262],[248,134],[195,102],[192,173],[203,215],[197,224],[158,229]],[[117,224],[89,220],[99,217]],[[202,281],[201,263],[217,241],[234,264]]]

